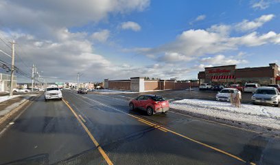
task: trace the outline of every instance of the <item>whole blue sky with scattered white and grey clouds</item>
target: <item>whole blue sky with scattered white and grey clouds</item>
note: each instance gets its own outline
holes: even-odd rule
[[[78,73],[81,82],[197,79],[205,67],[280,64],[279,8],[280,0],[1,0],[0,50],[11,54],[14,40],[16,67],[31,75],[34,64],[48,82]]]

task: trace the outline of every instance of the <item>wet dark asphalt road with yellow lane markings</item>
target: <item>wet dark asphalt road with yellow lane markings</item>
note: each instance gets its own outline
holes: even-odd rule
[[[0,164],[280,164],[280,139],[170,111],[129,111],[128,97],[40,96],[0,134]]]

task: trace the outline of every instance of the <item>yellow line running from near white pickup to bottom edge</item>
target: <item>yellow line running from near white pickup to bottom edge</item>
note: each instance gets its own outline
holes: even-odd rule
[[[75,113],[75,111],[70,107],[70,105],[64,100],[62,99],[63,102],[65,102],[65,104],[67,105],[67,107],[69,107],[69,109],[72,111],[72,113],[75,115],[75,118],[77,118],[78,122],[80,122],[80,124],[82,125],[82,127],[84,128],[84,130],[86,131],[86,133],[89,135],[89,137],[91,138],[91,140],[93,141],[93,144],[95,144],[95,146],[97,147],[98,151],[100,151],[102,157],[106,160],[108,165],[113,165],[113,162],[110,161],[108,155],[105,153],[105,151],[102,149],[102,147],[100,146],[100,144],[98,144],[98,142],[95,140],[95,138],[93,137],[93,135],[91,134],[91,132],[89,131],[89,129],[84,125],[84,123],[82,122],[82,120],[80,120],[80,118],[78,117],[77,113]]]

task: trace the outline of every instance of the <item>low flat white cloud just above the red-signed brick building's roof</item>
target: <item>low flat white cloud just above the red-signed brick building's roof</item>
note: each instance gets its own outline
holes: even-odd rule
[[[222,54],[213,56],[213,57],[206,57],[206,58],[201,58],[200,60],[201,63],[207,63],[209,65],[237,65],[240,63],[248,63],[246,60],[242,59],[232,59],[229,57],[226,57]]]

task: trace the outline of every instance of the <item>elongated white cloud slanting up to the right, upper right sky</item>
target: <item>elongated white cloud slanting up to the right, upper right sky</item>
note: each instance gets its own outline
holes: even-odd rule
[[[236,30],[240,30],[242,32],[256,30],[257,28],[264,25],[264,23],[271,21],[275,17],[274,14],[262,15],[261,17],[255,19],[254,21],[244,20],[241,23],[235,25]]]

